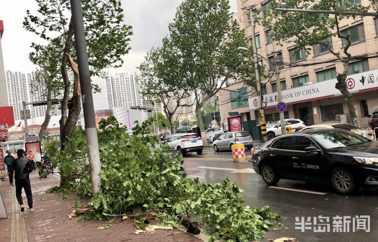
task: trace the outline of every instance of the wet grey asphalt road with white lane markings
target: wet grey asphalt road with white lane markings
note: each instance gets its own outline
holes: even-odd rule
[[[246,153],[250,159],[250,151],[246,150]],[[184,157],[183,165],[190,177],[199,177],[207,183],[218,183],[228,176],[244,190],[242,196],[245,205],[251,208],[268,205],[272,212],[286,217],[282,220],[281,231],[269,231],[266,239],[292,237],[299,242],[378,241],[378,188],[360,189],[353,195],[341,195],[332,187],[302,181],[280,180],[277,186],[268,186],[253,171],[251,162],[234,163],[231,151],[214,152],[211,148],[205,148],[202,155],[189,153]],[[362,215],[370,216],[370,231],[360,228],[353,232],[358,222],[355,220],[353,225],[353,218]],[[324,218],[322,222],[319,216],[329,217],[329,221]],[[334,218],[336,216],[341,218]],[[310,224],[306,225],[303,232],[295,228],[301,226],[295,223],[295,217],[304,217],[304,220],[311,217]],[[320,225],[320,229],[325,228],[327,231],[329,224],[330,232],[315,232],[313,217],[318,223],[316,229]],[[326,225],[322,226],[321,223]],[[334,228],[341,232],[333,232]],[[345,232],[342,232],[343,229]]]

